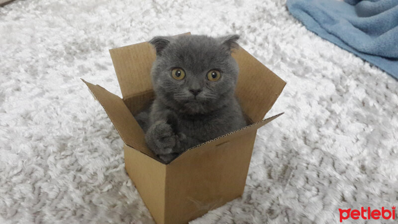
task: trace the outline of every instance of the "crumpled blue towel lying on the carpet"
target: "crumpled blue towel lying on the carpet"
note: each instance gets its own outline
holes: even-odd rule
[[[398,79],[398,0],[288,0],[308,30]]]

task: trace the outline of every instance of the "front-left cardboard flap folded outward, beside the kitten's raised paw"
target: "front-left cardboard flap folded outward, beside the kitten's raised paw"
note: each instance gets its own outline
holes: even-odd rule
[[[86,83],[94,97],[100,102],[103,109],[105,109],[105,112],[108,114],[124,143],[155,158],[153,152],[145,144],[142,128],[127,109],[123,100],[99,85],[93,85],[83,79],[82,81]]]

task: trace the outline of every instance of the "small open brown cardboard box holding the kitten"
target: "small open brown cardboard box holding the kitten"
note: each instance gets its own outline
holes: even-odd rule
[[[189,33],[188,33],[189,34]],[[204,142],[163,164],[145,144],[134,114],[154,98],[150,71],[156,58],[148,42],[109,50],[123,99],[84,81],[124,141],[125,168],[158,224],[187,223],[242,195],[257,129],[286,83],[243,48],[236,95],[250,125]]]

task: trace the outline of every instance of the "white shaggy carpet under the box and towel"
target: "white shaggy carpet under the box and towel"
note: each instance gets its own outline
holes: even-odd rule
[[[80,78],[120,96],[108,49],[187,31],[240,34],[288,83],[268,115],[286,114],[258,131],[243,197],[192,223],[338,223],[339,208],[398,205],[398,82],[307,31],[285,0],[210,2],[0,8],[0,223],[153,223]]]

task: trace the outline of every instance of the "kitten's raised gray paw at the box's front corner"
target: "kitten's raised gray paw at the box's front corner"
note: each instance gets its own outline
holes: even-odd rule
[[[156,155],[165,155],[173,153],[177,136],[170,124],[158,121],[149,127],[145,140]]]

